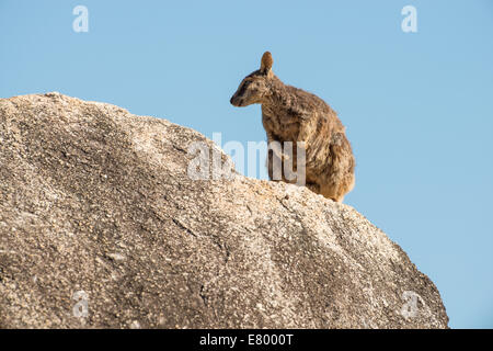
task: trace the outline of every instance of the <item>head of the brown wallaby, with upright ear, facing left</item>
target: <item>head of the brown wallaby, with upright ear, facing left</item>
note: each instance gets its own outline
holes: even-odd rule
[[[231,104],[237,107],[248,106],[252,103],[263,103],[270,95],[272,72],[272,55],[265,52],[262,56],[261,68],[248,75],[231,97]]]

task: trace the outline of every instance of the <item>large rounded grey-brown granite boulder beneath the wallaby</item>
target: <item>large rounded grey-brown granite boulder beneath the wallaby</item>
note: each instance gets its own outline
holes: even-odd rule
[[[1,99],[0,328],[447,328],[435,285],[354,208],[193,180],[197,140],[59,93]]]

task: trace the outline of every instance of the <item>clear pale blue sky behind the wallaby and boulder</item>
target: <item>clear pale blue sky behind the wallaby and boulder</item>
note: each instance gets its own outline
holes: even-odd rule
[[[59,91],[246,146],[265,139],[260,106],[229,98],[268,49],[346,125],[345,202],[434,281],[450,327],[492,328],[492,38],[491,0],[0,0],[0,97]]]

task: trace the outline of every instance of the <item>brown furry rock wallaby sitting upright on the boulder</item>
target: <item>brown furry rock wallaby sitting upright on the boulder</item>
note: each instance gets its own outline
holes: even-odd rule
[[[267,143],[293,143],[293,169],[296,169],[296,146],[305,141],[306,186],[328,199],[342,202],[354,188],[355,159],[345,127],[322,99],[301,89],[283,83],[272,71],[273,58],[270,52],[262,56],[261,67],[246,76],[232,95],[233,106],[262,104],[262,123]],[[300,143],[301,144],[301,143]],[[273,157],[267,155],[268,177],[273,180]],[[274,162],[275,165],[275,162]],[[274,179],[278,180],[278,179]],[[285,174],[279,179],[293,183]]]

